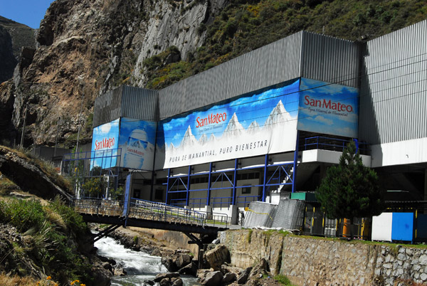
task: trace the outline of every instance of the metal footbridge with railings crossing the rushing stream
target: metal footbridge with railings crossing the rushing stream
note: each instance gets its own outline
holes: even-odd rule
[[[88,223],[111,225],[101,232],[95,241],[120,226],[154,228],[185,233],[192,241],[201,245],[200,236],[213,237],[218,231],[228,229],[228,216],[223,213],[206,213],[186,208],[170,206],[165,203],[131,198],[129,203],[98,198],[75,198],[75,211]]]

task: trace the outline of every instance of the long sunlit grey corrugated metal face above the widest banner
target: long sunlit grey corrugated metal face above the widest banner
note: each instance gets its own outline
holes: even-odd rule
[[[160,90],[160,118],[298,78],[302,33],[270,43]]]

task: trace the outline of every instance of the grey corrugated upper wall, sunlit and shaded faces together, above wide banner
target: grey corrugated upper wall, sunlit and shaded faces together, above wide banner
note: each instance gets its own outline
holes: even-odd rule
[[[301,31],[159,91],[162,119],[305,77],[358,87],[359,46]]]

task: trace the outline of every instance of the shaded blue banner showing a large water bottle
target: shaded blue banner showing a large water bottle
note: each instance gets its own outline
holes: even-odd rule
[[[157,123],[122,117],[119,148],[120,166],[129,169],[152,170]]]

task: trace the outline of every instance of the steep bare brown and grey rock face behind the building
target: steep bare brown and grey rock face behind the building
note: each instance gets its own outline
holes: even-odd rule
[[[9,86],[0,86],[1,101],[14,98],[6,110],[11,125],[0,126],[0,139],[19,137],[11,131],[23,126],[25,112],[26,145],[53,144],[59,118],[60,138],[76,133],[78,107],[84,127],[97,95],[122,84],[144,86],[145,58],[176,46],[176,56],[185,59],[204,42],[201,23],[224,5],[224,0],[53,1],[41,21],[38,48],[21,57]],[[80,138],[91,136],[90,121],[87,125]]]

